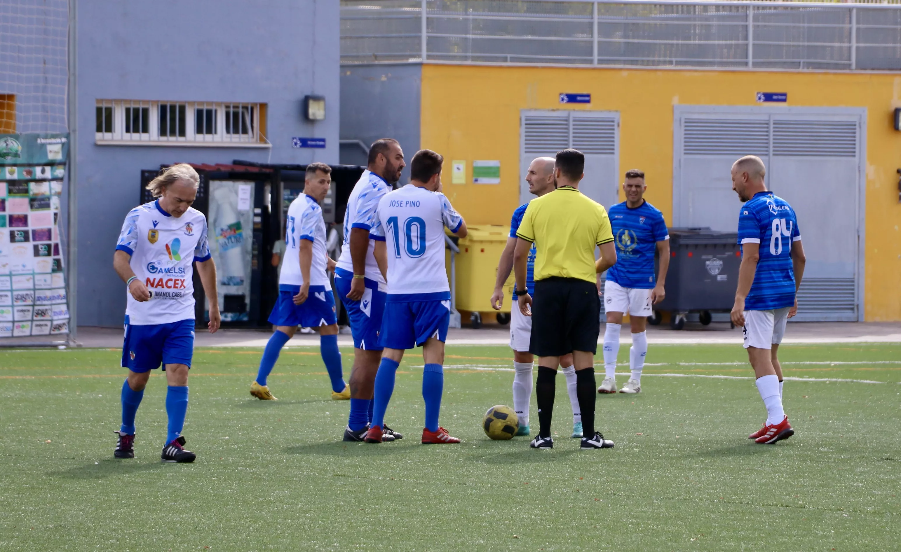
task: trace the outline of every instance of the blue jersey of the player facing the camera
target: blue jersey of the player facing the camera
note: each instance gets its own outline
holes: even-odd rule
[[[625,202],[607,212],[616,244],[616,264],[607,280],[634,289],[654,287],[654,251],[657,242],[669,240],[663,213],[648,202],[630,209]]]

